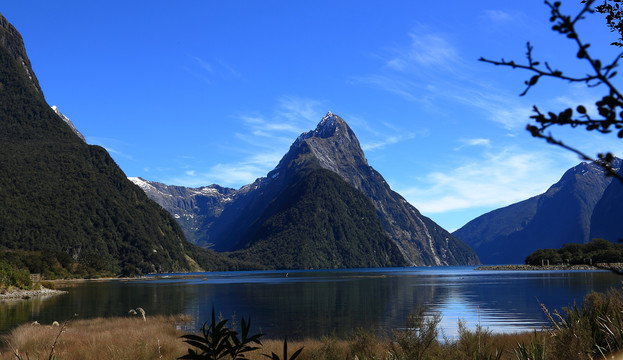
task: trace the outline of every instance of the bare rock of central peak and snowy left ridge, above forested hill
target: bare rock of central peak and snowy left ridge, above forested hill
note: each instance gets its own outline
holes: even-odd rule
[[[372,201],[384,229],[407,263],[479,263],[471,248],[391,190],[368,165],[354,132],[331,112],[315,130],[301,134],[266,177],[239,190],[217,185],[191,189],[130,179],[176,217],[189,240],[203,246],[209,244],[217,251],[231,251],[247,244],[246,230],[290,183],[293,174],[314,166],[340,175]]]

